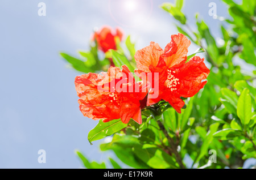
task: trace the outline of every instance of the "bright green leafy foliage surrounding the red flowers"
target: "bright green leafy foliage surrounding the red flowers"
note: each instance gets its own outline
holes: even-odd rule
[[[195,14],[196,29],[186,23],[184,3],[167,2],[160,8],[176,19],[177,30],[198,46],[195,54],[204,53],[211,71],[207,85],[195,97],[185,99],[187,108],[181,114],[159,102],[160,117],[153,117],[150,110],[144,109],[142,125],[134,122],[125,125],[120,119],[100,121],[89,132],[88,140],[109,136],[108,143],[101,144],[101,151],[113,151],[131,168],[242,168],[247,159],[256,158],[256,2],[243,0],[238,4],[223,0],[230,16],[213,16],[221,24],[221,44],[216,43],[200,14]],[[125,50],[120,45],[123,42],[117,39],[116,43],[117,50],[110,50],[103,58],[99,58],[95,41],[88,52],[79,52],[81,59],[61,55],[84,73],[106,71],[110,58],[115,66],[125,64],[133,71],[136,50],[130,36],[125,40]],[[184,167],[172,148],[177,149]],[[214,155],[211,149],[216,152],[216,163],[210,163],[209,157]],[[90,162],[79,151],[77,156],[85,168],[122,168],[113,158],[109,158],[112,166],[106,167],[106,162]]]

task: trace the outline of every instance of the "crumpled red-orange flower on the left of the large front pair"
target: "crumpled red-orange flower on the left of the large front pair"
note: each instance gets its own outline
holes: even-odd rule
[[[140,100],[147,95],[149,84],[135,82],[129,68],[110,67],[108,72],[88,73],[75,79],[80,110],[84,116],[109,122],[121,118],[128,123],[131,118],[142,123]],[[131,90],[132,89],[132,90]]]

